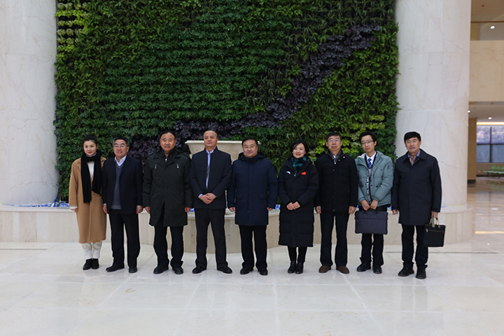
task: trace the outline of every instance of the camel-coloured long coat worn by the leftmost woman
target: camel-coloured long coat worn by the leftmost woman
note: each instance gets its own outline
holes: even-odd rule
[[[101,162],[103,167],[105,158],[101,158]],[[80,176],[81,167],[80,158],[73,161],[69,186],[69,206],[78,207],[79,243],[97,243],[106,238],[106,214],[103,211],[102,195],[91,190],[91,202],[84,203],[82,178]],[[94,170],[102,169],[102,167],[96,167],[95,165]]]

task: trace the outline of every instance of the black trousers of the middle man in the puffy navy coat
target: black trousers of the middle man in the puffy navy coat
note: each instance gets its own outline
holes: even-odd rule
[[[241,266],[252,268],[254,265],[253,246],[252,246],[252,235],[253,235],[255,246],[255,258],[257,258],[255,267],[257,267],[258,269],[266,268],[267,267],[266,225],[238,225],[238,226],[240,229],[240,238],[241,238],[241,256],[244,259],[244,262],[241,264]]]

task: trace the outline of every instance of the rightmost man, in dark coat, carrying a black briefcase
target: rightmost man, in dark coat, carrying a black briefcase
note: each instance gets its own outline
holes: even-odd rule
[[[407,132],[407,153],[395,161],[392,186],[392,213],[399,213],[402,225],[402,269],[398,276],[413,274],[413,236],[416,230],[416,278],[426,279],[428,248],[423,232],[431,217],[441,210],[441,175],[437,160],[420,150],[421,137]]]

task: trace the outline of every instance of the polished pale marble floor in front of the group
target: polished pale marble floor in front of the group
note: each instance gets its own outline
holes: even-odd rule
[[[427,279],[400,278],[400,246],[385,246],[383,274],[358,273],[360,246],[349,246],[350,274],[318,273],[309,248],[303,274],[287,274],[286,248],[268,250],[269,275],[209,269],[153,274],[152,246],[139,272],[81,269],[76,243],[0,242],[0,335],[504,335],[504,179],[468,187],[476,234],[431,248]],[[351,233],[349,232],[349,235]]]

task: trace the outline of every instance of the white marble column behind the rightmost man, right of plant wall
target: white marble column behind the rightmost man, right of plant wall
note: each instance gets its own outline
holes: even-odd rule
[[[470,0],[398,0],[399,112],[396,154],[406,153],[406,132],[421,134],[442,179],[442,214],[458,240],[472,235],[466,216]],[[448,225],[447,225],[448,226]],[[454,229],[455,230],[455,229]],[[449,232],[447,232],[449,235]]]

